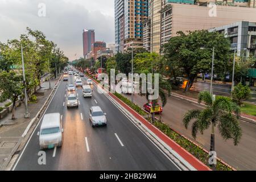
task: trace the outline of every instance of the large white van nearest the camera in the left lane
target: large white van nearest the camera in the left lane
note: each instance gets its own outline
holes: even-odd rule
[[[62,123],[60,113],[44,114],[40,127],[40,149],[62,146]]]

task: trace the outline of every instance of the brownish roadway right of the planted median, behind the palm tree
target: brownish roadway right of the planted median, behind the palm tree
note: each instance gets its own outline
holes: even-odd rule
[[[129,94],[123,94],[130,98]],[[146,98],[134,95],[134,102],[139,106],[145,104]],[[181,100],[173,96],[167,98],[167,104],[164,106],[162,119],[172,129],[176,130],[185,137],[192,139],[196,143],[209,150],[210,146],[210,129],[204,132],[204,135],[198,134],[196,140],[191,135],[191,125],[188,130],[185,129],[182,120],[183,115],[191,109],[200,109],[202,106],[193,104],[189,101]],[[217,157],[224,160],[238,170],[255,170],[256,169],[256,124],[240,120],[243,135],[238,146],[234,146],[232,140],[225,141],[216,129],[215,149]]]

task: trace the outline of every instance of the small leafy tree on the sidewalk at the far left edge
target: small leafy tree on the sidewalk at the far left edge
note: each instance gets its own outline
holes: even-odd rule
[[[15,104],[19,96],[22,95],[22,75],[14,71],[0,72],[0,102],[10,99],[13,102],[11,119],[15,119]]]

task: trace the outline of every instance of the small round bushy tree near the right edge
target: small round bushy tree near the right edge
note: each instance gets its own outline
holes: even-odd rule
[[[243,86],[241,82],[234,86],[234,90],[232,91],[232,100],[241,106],[242,101],[247,100],[251,96],[251,89],[249,86]]]

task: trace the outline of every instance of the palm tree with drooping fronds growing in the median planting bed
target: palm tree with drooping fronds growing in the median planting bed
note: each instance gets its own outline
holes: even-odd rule
[[[238,122],[240,116],[240,107],[238,107],[229,97],[216,96],[213,99],[208,91],[200,92],[199,104],[205,102],[206,108],[203,110],[193,109],[189,110],[183,118],[183,123],[188,129],[189,122],[192,124],[192,136],[196,139],[197,132],[201,134],[212,126],[210,134],[210,151],[214,151],[214,127],[218,127],[221,136],[227,139],[233,139],[236,146],[241,139],[242,129]],[[236,114],[237,117],[234,117]]]

